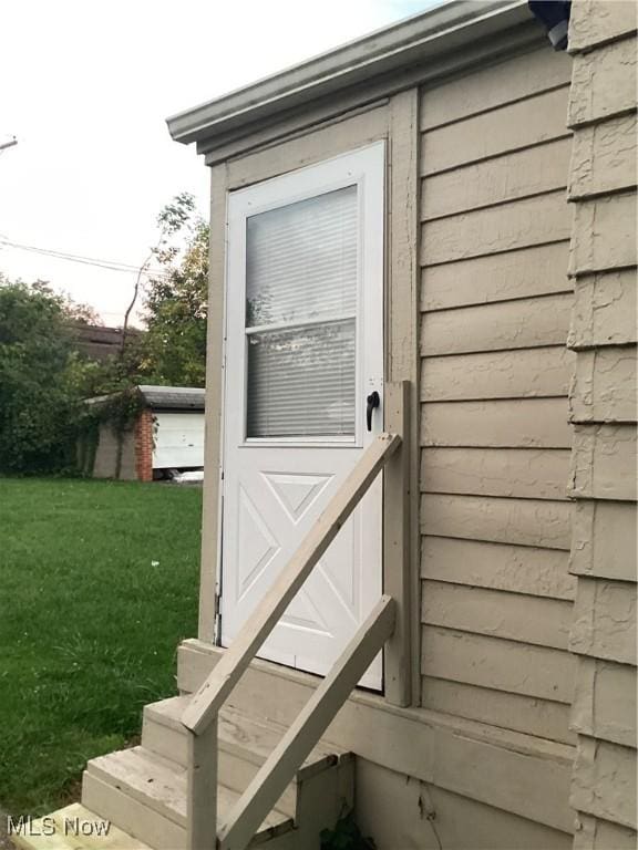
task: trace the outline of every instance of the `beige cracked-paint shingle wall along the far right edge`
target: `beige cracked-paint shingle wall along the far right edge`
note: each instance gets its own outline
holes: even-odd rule
[[[577,0],[569,273],[575,848],[636,847],[636,4]]]

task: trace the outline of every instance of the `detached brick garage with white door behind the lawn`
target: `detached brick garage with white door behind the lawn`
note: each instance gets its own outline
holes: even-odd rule
[[[116,396],[89,400],[107,412]],[[204,390],[142,384],[133,394],[135,414],[124,428],[105,415],[80,447],[81,466],[94,478],[152,481],[173,470],[204,466]]]

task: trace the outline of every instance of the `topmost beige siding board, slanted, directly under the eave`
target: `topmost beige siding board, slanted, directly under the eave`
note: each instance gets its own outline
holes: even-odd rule
[[[564,53],[538,49],[493,65],[472,69],[451,82],[425,89],[421,99],[421,128],[431,129],[480,112],[569,83],[572,63]]]

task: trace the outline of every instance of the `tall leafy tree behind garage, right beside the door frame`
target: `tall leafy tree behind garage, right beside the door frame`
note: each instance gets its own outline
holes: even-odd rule
[[[151,276],[144,301],[147,333],[141,371],[152,383],[204,386],[208,297],[208,225],[192,195],[177,195],[157,217],[161,237],[153,255],[162,267]],[[181,249],[175,237],[185,241]]]

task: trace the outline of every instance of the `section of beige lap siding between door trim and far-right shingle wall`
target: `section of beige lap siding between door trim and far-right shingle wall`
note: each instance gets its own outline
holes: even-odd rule
[[[422,704],[573,744],[569,61],[421,104]]]

